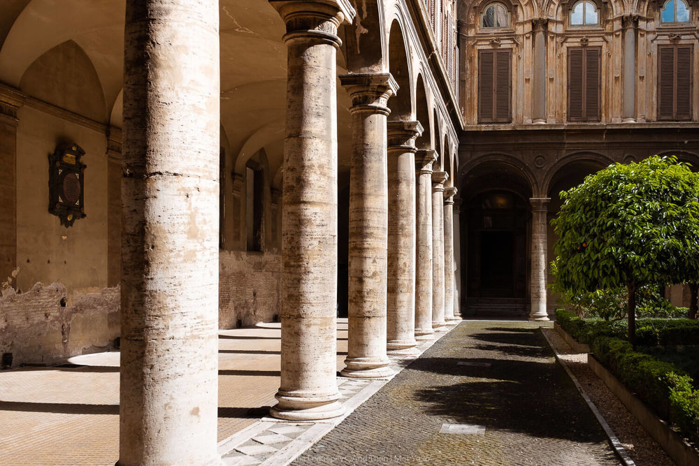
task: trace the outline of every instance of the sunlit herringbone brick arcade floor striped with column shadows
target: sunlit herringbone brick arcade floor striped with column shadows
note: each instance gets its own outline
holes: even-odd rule
[[[338,370],[347,319],[338,322]],[[119,449],[119,354],[77,356],[73,367],[0,372],[0,465],[113,465]],[[275,404],[280,324],[219,333],[219,441]]]

